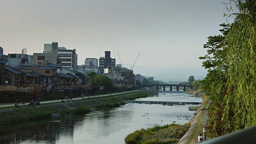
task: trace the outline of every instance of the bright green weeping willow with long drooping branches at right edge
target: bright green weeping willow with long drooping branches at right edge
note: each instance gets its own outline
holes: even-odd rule
[[[224,134],[256,124],[256,1],[230,3],[238,12],[224,48],[228,66],[222,113]],[[230,112],[234,113],[232,117]]]

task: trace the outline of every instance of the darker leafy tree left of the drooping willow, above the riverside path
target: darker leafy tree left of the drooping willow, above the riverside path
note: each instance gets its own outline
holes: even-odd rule
[[[208,42],[204,44],[207,49],[205,56],[199,57],[204,60],[202,66],[208,69],[208,74],[202,84],[204,92],[210,95],[210,106],[208,108],[207,130],[208,137],[216,137],[222,135],[222,110],[224,109],[224,95],[227,90],[226,74],[228,72],[227,64],[225,63],[226,52],[224,48],[227,46],[226,35],[230,29],[230,24],[220,24],[222,29],[221,34],[209,36]]]

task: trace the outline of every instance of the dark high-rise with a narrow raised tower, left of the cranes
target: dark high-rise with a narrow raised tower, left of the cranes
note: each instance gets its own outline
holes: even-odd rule
[[[105,57],[100,57],[100,73],[104,73],[104,68],[108,68],[109,70],[112,70],[116,66],[116,59],[110,57],[111,52],[105,51]]]

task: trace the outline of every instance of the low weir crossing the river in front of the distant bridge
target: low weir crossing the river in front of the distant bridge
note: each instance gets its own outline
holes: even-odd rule
[[[166,101],[142,101],[142,100],[126,100],[126,103],[147,103],[147,104],[202,104],[202,102],[166,102]]]

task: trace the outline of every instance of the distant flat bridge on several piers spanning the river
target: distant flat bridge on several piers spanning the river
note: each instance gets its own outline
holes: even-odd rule
[[[183,86],[184,87],[184,91],[186,91],[186,87],[190,87],[190,89],[193,89],[193,85],[190,85],[190,84],[142,84],[142,86],[148,86],[148,87],[152,87],[152,86],[156,86],[156,89],[158,89],[159,86],[163,86],[163,90],[165,91],[165,87],[166,86],[170,86],[170,91],[172,91],[172,87],[173,86],[176,86],[177,88],[177,91],[180,91],[180,86]]]

